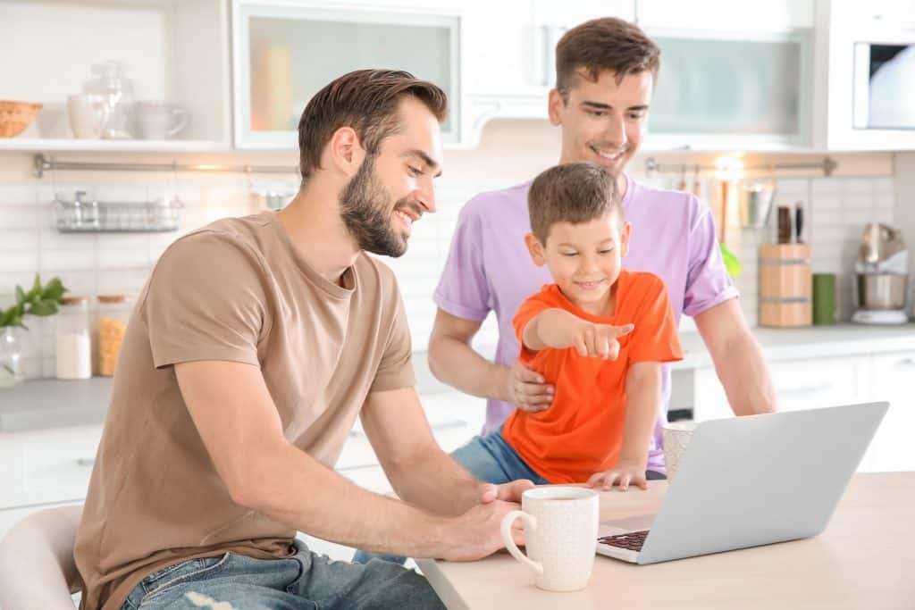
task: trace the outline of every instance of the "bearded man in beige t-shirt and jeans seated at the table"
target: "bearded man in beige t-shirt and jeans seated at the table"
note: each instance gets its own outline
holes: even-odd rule
[[[299,123],[282,212],[222,219],[162,255],[124,337],[77,534],[81,607],[441,607],[388,562],[332,562],[296,530],[414,557],[501,548],[528,481],[470,476],[414,391],[393,273],[436,209],[445,93],[406,72],[328,84]],[[356,416],[404,501],[333,471]]]

